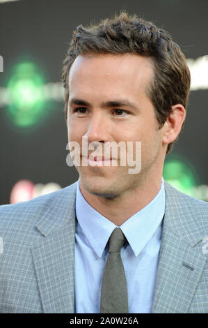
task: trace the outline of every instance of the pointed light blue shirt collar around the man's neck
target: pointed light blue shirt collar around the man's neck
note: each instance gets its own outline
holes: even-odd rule
[[[120,225],[135,256],[138,256],[161,224],[165,213],[165,202],[165,188],[162,179],[160,191],[154,199]],[[80,191],[79,182],[77,184],[76,214],[89,246],[101,257],[111,233],[117,226],[85,200]]]

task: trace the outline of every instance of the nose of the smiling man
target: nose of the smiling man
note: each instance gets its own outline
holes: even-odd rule
[[[109,141],[109,122],[104,113],[93,114],[84,136],[88,137],[88,142]]]

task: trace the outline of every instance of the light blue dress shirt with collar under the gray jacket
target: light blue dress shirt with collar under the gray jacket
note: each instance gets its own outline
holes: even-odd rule
[[[129,313],[151,313],[166,195],[161,189],[141,211],[120,225],[129,244],[121,249]],[[75,313],[100,313],[106,244],[116,225],[88,204],[77,184],[75,235]],[[119,277],[118,277],[119,278]]]

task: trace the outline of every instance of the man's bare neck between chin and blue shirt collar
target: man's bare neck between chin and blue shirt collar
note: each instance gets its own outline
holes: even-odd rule
[[[102,216],[119,226],[154,199],[161,188],[161,176],[157,179],[146,179],[141,186],[112,199],[90,194],[83,188],[81,181],[79,186],[86,201]]]

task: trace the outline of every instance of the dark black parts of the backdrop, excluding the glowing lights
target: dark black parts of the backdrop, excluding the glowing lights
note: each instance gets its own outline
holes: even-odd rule
[[[11,68],[22,59],[34,61],[45,82],[60,82],[63,59],[72,31],[79,24],[99,22],[126,9],[167,29],[182,47],[186,58],[208,54],[208,1],[137,0],[70,1],[22,0],[0,3],[0,54],[6,87]],[[198,174],[199,184],[208,184],[207,90],[191,91],[188,114],[174,154],[183,156]],[[65,187],[78,179],[66,165],[67,129],[63,103],[50,103],[49,115],[35,129],[15,128],[0,107],[1,184],[0,204],[9,203],[10,191],[19,179],[34,184],[56,182]]]

